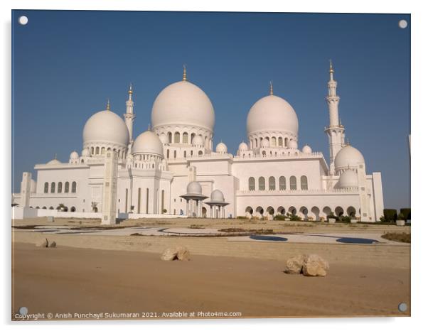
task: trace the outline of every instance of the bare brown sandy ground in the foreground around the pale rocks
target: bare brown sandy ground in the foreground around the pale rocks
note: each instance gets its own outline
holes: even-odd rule
[[[284,262],[15,243],[12,309],[28,313],[237,312],[240,318],[410,315],[410,269],[331,261],[325,278],[283,273]],[[397,305],[407,303],[400,313]],[[66,317],[67,315],[65,315]],[[105,315],[104,315],[105,316]],[[12,316],[14,317],[14,315]]]

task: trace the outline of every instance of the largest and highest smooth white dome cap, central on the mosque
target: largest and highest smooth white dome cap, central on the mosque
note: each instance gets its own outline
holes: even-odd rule
[[[154,100],[151,125],[190,125],[213,131],[215,114],[207,94],[183,80],[165,87]]]

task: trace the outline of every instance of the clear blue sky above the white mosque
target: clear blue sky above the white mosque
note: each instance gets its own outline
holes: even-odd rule
[[[146,130],[156,95],[181,80],[183,63],[213,102],[214,143],[235,153],[247,112],[273,80],[299,116],[299,145],[328,160],[331,58],[347,137],[368,173],[382,172],[385,207],[410,205],[410,15],[13,11],[12,31],[16,192],[34,164],[80,153],[85,121],[107,98],[122,115],[129,82],[134,134]]]

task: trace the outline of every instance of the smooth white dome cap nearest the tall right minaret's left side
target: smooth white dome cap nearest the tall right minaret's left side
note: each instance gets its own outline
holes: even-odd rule
[[[257,101],[247,116],[247,134],[279,131],[297,136],[299,120],[293,107],[276,95],[268,95]]]

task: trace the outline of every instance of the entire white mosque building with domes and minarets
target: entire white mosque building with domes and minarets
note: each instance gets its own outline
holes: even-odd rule
[[[380,173],[365,172],[362,153],[345,142],[340,98],[330,65],[330,156],[299,148],[293,107],[270,93],[247,115],[247,142],[235,154],[213,149],[215,112],[200,87],[183,80],[165,87],[151,109],[151,129],[133,135],[132,87],[124,119],[107,109],[83,128],[79,155],[36,164],[13,195],[14,218],[99,217],[104,223],[139,217],[258,217],[288,212],[302,219],[348,215],[365,222],[383,213]]]

